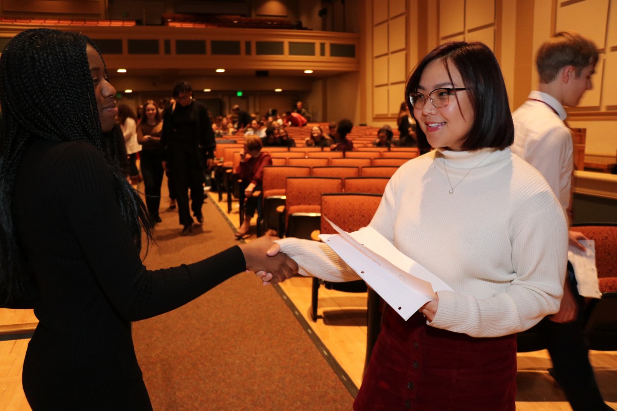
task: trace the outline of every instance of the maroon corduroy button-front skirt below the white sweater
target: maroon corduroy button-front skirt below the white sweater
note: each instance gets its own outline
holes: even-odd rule
[[[514,411],[516,335],[473,338],[387,307],[356,411]]]

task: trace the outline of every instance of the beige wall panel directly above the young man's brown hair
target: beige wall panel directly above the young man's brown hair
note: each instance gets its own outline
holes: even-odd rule
[[[604,47],[607,30],[608,0],[585,0],[557,6],[557,31],[574,30],[592,39],[596,46]]]

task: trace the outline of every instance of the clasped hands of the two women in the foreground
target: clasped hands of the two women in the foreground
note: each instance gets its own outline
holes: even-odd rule
[[[246,269],[255,272],[263,285],[278,284],[298,272],[296,261],[280,252],[281,247],[274,242],[277,239],[263,236],[240,246],[246,260]]]

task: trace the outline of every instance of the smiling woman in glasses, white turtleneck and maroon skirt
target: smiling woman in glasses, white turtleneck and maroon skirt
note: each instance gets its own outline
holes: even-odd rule
[[[405,92],[436,150],[392,176],[370,226],[453,291],[407,321],[387,308],[354,409],[514,410],[515,333],[558,310],[565,216],[508,148],[507,92],[488,47],[442,44]],[[279,246],[301,274],[358,279],[323,243],[286,238],[270,254]]]

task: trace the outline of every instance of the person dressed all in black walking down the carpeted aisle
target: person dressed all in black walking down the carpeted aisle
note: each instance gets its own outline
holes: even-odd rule
[[[193,229],[193,216],[203,224],[204,173],[214,165],[216,141],[205,105],[193,100],[193,87],[183,82],[173,87],[175,102],[163,113],[160,144],[164,168],[169,170],[178,204],[178,218],[183,226],[180,235]],[[191,190],[189,208],[188,191]]]

